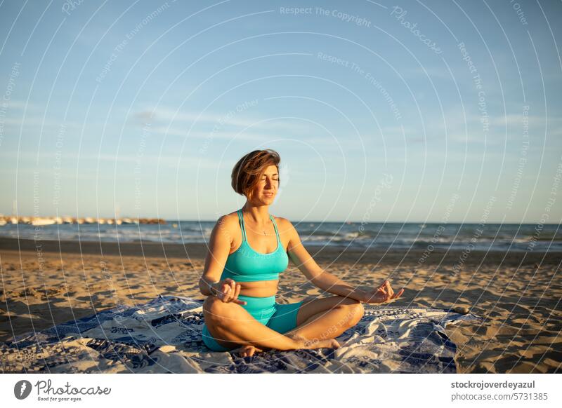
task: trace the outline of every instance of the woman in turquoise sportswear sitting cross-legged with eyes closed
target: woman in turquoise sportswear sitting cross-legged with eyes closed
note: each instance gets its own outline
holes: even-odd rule
[[[270,348],[338,348],[334,338],[359,322],[362,302],[383,303],[404,292],[395,294],[388,280],[360,290],[316,264],[292,223],[268,213],[279,189],[279,163],[277,152],[255,150],[233,169],[233,189],[247,201],[218,219],[199,282],[207,296],[202,336],[211,350],[240,348],[245,357]],[[278,304],[279,273],[289,259],[308,281],[336,296]]]

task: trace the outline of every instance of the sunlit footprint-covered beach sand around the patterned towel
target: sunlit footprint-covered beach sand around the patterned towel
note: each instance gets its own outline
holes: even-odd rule
[[[326,271],[351,285],[405,287],[393,306],[466,306],[485,318],[448,326],[458,372],[552,373],[562,362],[560,253],[418,252],[307,247]],[[205,245],[78,243],[0,238],[0,341],[158,294],[204,299],[198,289]],[[420,259],[424,259],[420,262]],[[462,268],[455,272],[455,265]],[[331,296],[293,264],[280,299]]]

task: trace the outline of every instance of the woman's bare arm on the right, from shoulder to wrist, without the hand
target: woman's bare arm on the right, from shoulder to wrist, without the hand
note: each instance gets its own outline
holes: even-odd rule
[[[358,301],[365,301],[365,299],[368,298],[368,293],[365,290],[348,285],[343,280],[337,278],[337,276],[320,268],[301,243],[299,233],[296,231],[293,224],[285,218],[283,218],[283,222],[285,231],[289,233],[289,245],[287,247],[289,259],[293,261],[296,267],[299,268],[313,285],[326,292],[349,297]]]

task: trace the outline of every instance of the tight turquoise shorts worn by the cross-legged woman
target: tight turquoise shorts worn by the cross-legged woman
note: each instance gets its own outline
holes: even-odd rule
[[[254,316],[256,320],[266,325],[270,329],[275,330],[277,333],[286,333],[296,327],[296,314],[299,313],[299,308],[302,301],[290,304],[278,304],[275,301],[275,296],[270,297],[250,297],[238,295],[238,299],[246,301],[247,304],[240,305],[248,311],[249,314]],[[226,348],[218,344],[217,341],[211,336],[207,329],[207,324],[203,324],[203,343],[213,351],[230,351],[240,347],[235,345]]]

